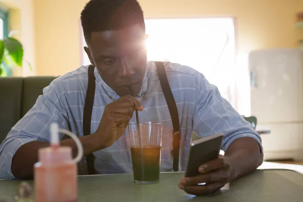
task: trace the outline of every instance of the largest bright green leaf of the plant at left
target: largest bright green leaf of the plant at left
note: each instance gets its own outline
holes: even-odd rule
[[[5,38],[3,40],[4,47],[8,50],[9,55],[18,66],[22,66],[23,47],[22,44],[15,38]]]

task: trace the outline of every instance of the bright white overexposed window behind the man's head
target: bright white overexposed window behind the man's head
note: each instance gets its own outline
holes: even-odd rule
[[[241,75],[236,72],[233,18],[146,19],[145,26],[148,60],[194,68],[216,85],[221,95],[236,110],[240,109],[240,114],[247,111],[242,99],[240,104],[245,105],[245,109],[239,107],[236,92],[236,85],[241,85],[236,77]],[[82,44],[85,44],[84,38]],[[84,51],[83,64],[89,64]]]

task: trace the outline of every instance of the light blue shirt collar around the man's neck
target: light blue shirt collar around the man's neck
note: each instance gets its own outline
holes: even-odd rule
[[[148,63],[147,63],[148,64]],[[144,97],[145,92],[147,91],[147,75],[149,72],[148,65],[146,64],[146,71],[143,77],[143,81],[142,81],[142,86],[140,89],[140,92],[138,93],[139,97]],[[108,84],[106,84],[106,82],[101,78],[97,68],[94,69],[94,75],[96,78],[96,82],[99,83],[100,85],[102,85],[103,89],[105,90],[105,92],[107,93],[107,95],[111,98],[111,99],[115,99],[117,96],[119,96],[110,86],[108,86]]]

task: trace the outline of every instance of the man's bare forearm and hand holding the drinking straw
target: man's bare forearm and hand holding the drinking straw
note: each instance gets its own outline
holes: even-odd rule
[[[138,99],[126,95],[109,104],[97,130],[86,136],[79,137],[83,146],[83,156],[111,146],[125,132],[134,110],[143,110]],[[61,146],[70,146],[73,156],[77,155],[77,146],[73,139],[60,141]],[[16,178],[32,178],[33,165],[38,161],[38,149],[49,146],[48,142],[31,141],[22,145],[13,157],[12,173]],[[26,158],[24,158],[26,156]]]

